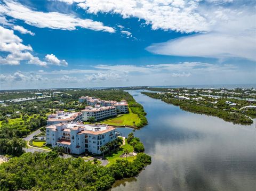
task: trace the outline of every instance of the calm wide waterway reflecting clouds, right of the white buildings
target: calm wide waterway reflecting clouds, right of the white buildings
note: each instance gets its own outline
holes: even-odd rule
[[[147,112],[148,126],[135,131],[152,156],[138,177],[111,190],[255,190],[256,129],[182,111],[129,91]],[[118,128],[127,136],[131,129]]]

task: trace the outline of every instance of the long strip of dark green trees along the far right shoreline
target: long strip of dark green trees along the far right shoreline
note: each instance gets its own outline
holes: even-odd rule
[[[156,93],[142,92],[142,94],[145,94],[152,98],[162,99],[162,101],[164,101],[166,103],[180,106],[180,109],[185,110],[185,111],[213,115],[215,117],[221,118],[225,121],[231,121],[233,123],[239,123],[239,124],[253,123],[253,121],[249,117],[246,117],[242,113],[235,113],[235,112],[229,112],[229,111],[225,111],[225,110],[221,110],[221,109],[215,109],[212,107],[207,107],[205,105],[190,103],[188,101],[181,101],[179,99],[174,99],[174,98],[167,99],[167,98],[163,98],[161,95],[156,94]]]

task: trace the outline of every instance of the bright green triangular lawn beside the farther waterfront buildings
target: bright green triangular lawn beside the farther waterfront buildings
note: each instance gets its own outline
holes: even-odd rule
[[[100,123],[107,123],[110,125],[113,124],[115,126],[133,126],[133,121],[135,121],[135,124],[138,124],[140,123],[140,118],[138,117],[138,114],[132,113],[131,109],[129,108],[129,113],[121,114],[116,118],[100,121]]]

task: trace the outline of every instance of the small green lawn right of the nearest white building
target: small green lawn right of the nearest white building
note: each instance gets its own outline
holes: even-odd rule
[[[133,147],[129,144],[126,143],[125,140],[125,145],[122,145],[120,148],[118,148],[118,150],[111,152],[109,155],[106,155],[106,159],[108,160],[108,165],[114,164],[116,162],[117,159],[125,159],[125,158],[121,158],[119,157],[121,154],[124,153],[124,150],[128,150],[129,152],[133,152]],[[136,159],[136,156],[129,156],[127,157],[128,161],[133,161],[134,159]]]

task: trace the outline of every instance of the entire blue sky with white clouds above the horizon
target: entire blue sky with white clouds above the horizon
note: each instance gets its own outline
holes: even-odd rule
[[[255,84],[254,1],[0,2],[1,89]]]

